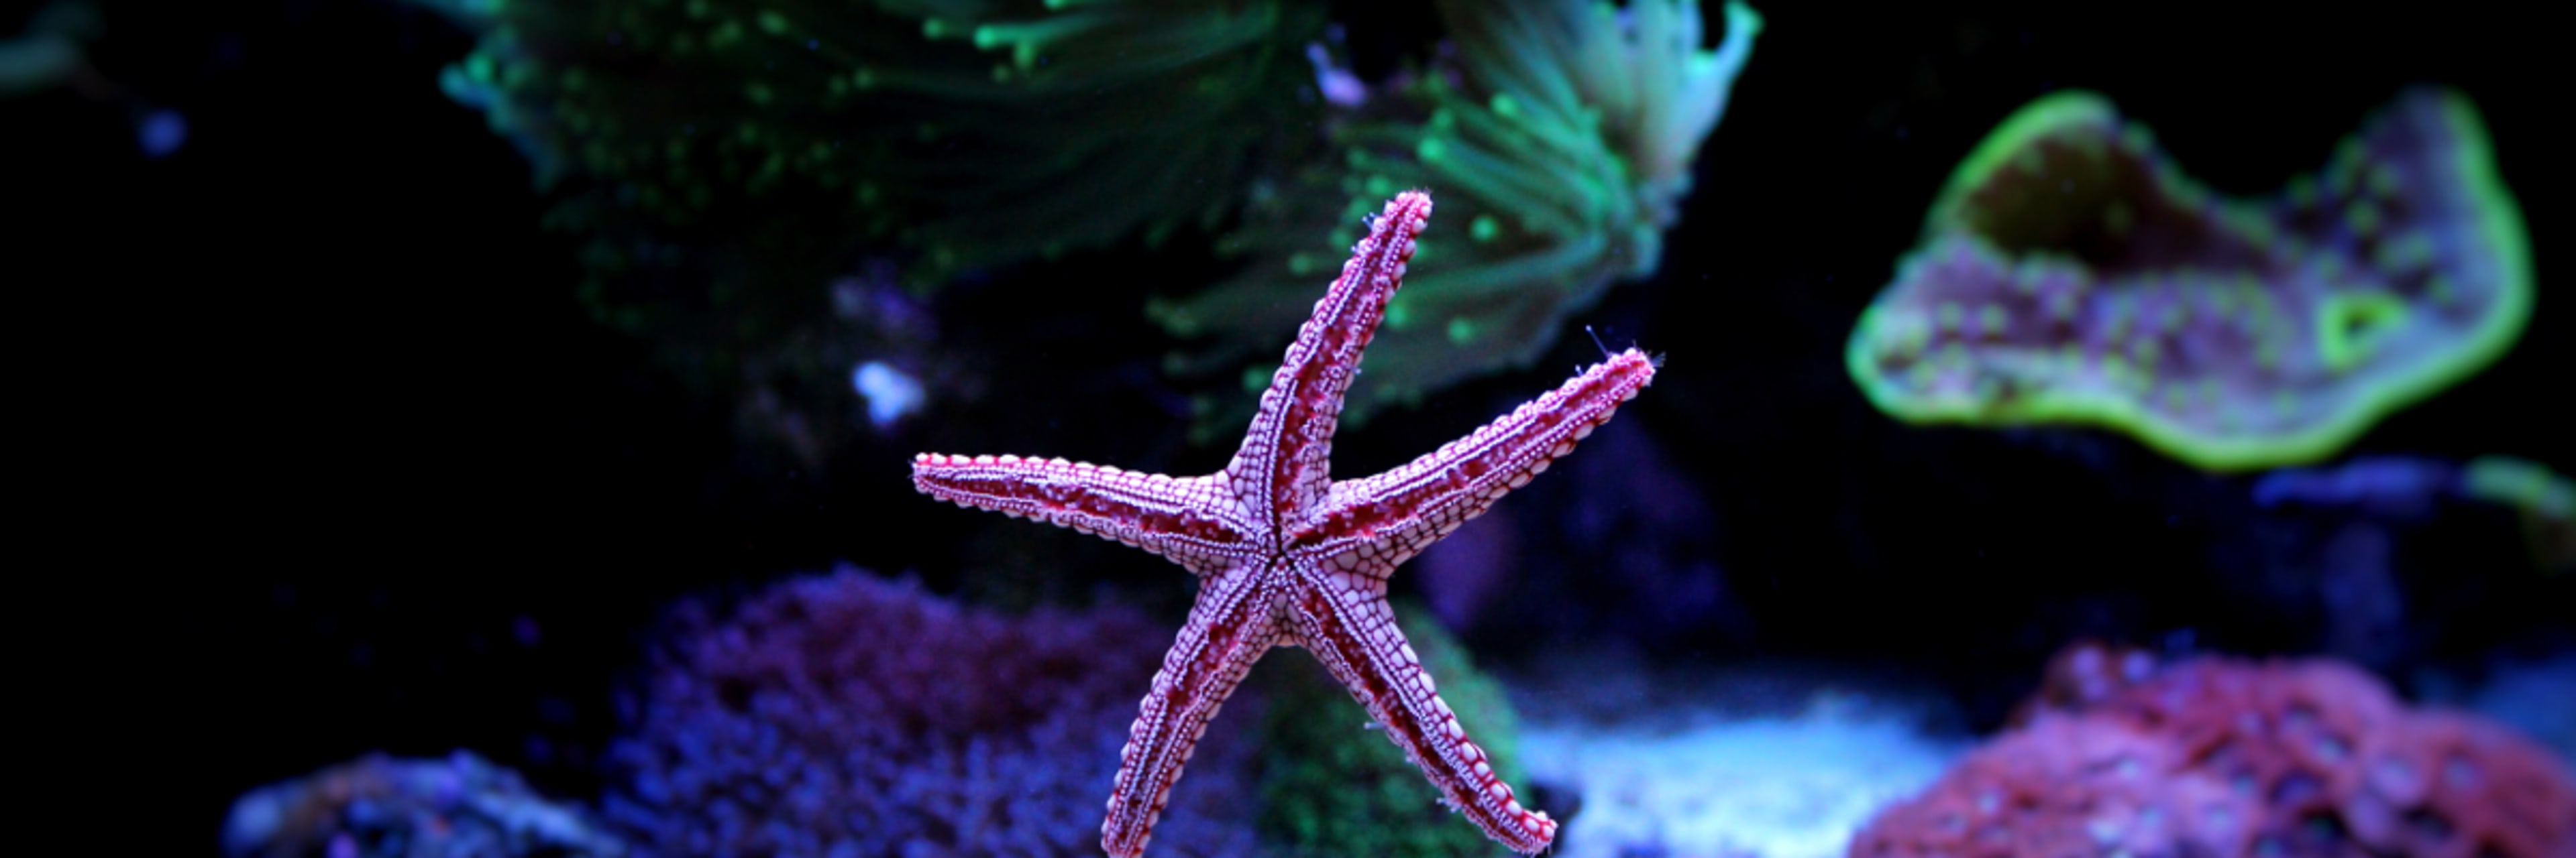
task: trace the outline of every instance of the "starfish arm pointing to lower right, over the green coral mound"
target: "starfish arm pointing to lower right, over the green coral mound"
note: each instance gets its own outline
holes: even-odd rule
[[[1458,714],[1440,701],[1414,647],[1396,629],[1383,585],[1306,577],[1291,621],[1298,642],[1386,727],[1386,737],[1422,768],[1450,809],[1515,853],[1538,853],[1556,840],[1556,819],[1512,799],[1512,786],[1494,773],[1484,747],[1466,737]]]

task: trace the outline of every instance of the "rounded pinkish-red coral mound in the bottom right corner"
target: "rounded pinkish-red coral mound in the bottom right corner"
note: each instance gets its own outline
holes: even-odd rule
[[[1850,853],[2576,858],[2576,778],[2347,665],[2197,660],[1989,742]]]

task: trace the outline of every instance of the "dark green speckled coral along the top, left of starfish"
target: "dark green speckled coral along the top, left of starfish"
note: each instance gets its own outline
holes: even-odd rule
[[[726,361],[819,314],[855,253],[902,276],[1216,227],[1311,113],[1306,3],[417,0],[446,70],[564,191],[592,307]]]

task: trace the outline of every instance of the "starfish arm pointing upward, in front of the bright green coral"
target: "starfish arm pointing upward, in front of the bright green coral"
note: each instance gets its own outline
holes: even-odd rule
[[[1360,350],[1386,317],[1386,299],[1404,286],[1404,263],[1430,216],[1432,196],[1425,191],[1386,201],[1368,237],[1350,247],[1342,276],[1314,304],[1314,317],[1288,343],[1288,361],[1270,376],[1226,474],[1247,487],[1247,502],[1267,505],[1255,513],[1273,526],[1301,518],[1324,497],[1342,394],[1360,374]]]

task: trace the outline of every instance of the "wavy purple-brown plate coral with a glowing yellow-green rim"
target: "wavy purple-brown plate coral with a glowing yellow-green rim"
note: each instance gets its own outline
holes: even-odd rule
[[[1911,423],[2094,423],[2202,469],[2331,456],[2522,332],[2532,260],[2468,98],[2409,90],[2236,201],[2089,93],[1950,175],[1847,363]]]

